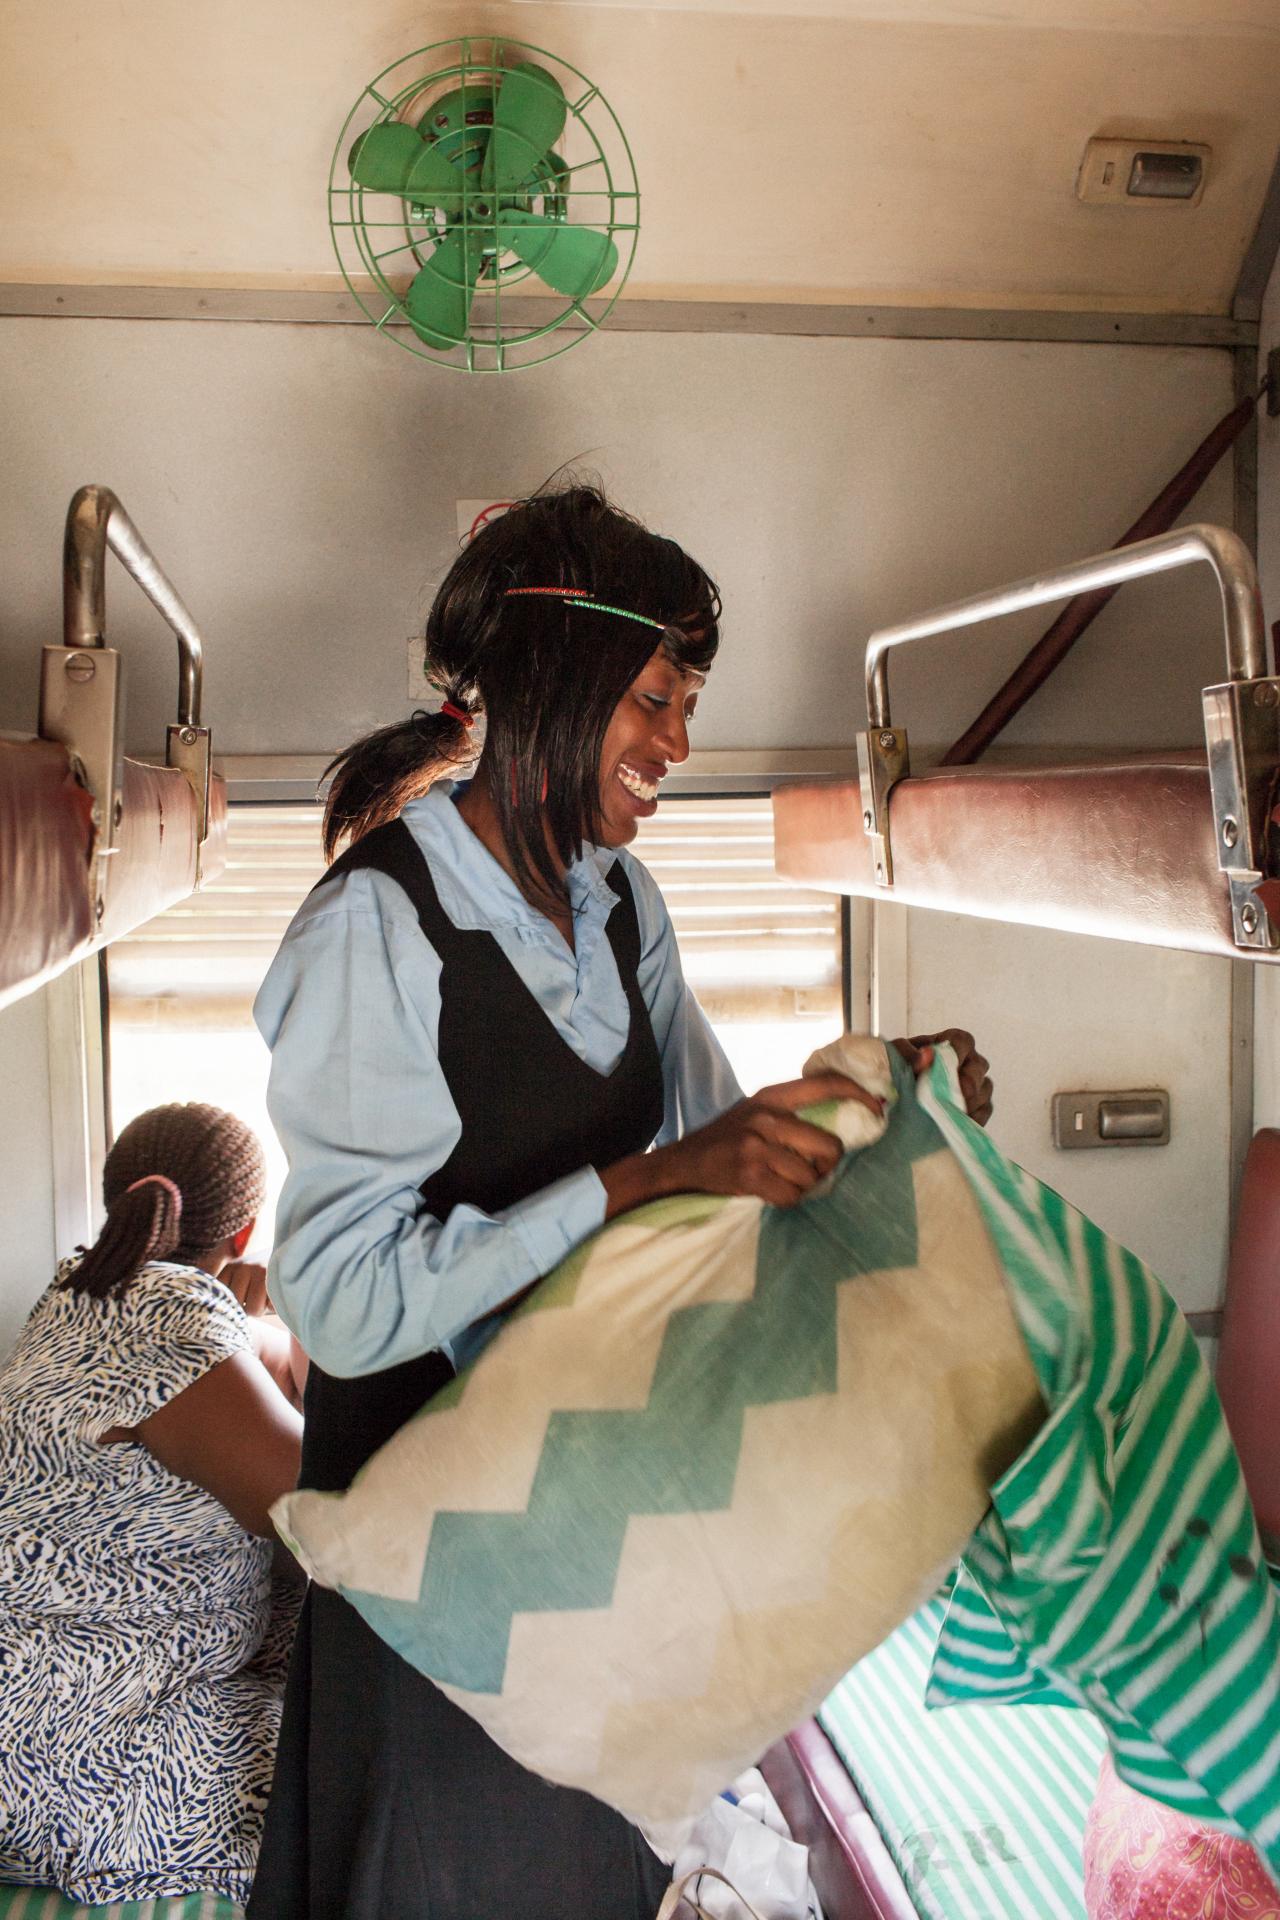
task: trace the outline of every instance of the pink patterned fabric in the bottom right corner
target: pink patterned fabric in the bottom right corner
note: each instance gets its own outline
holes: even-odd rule
[[[1102,1763],[1084,1822],[1088,1920],[1280,1920],[1253,1847],[1134,1793]]]

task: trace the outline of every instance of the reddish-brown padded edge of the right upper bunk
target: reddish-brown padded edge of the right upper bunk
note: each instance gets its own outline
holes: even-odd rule
[[[856,780],[779,787],[777,872],[829,893],[1242,958],[1196,749],[938,768],[894,787],[889,826],[892,889],[871,877]]]

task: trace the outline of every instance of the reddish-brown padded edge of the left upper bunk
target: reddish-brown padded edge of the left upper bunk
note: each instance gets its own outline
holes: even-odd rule
[[[65,747],[0,739],[0,1006],[196,887],[196,799],[169,766],[125,760],[123,814],[94,925],[92,801]],[[201,879],[226,864],[226,787],[211,781]]]

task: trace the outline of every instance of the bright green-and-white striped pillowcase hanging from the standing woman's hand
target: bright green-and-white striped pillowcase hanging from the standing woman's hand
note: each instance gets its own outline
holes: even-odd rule
[[[1159,1281],[1011,1167],[938,1058],[921,1104],[983,1208],[1050,1417],[992,1490],[929,1705],[1092,1707],[1117,1774],[1280,1866],[1280,1626],[1222,1407]]]

